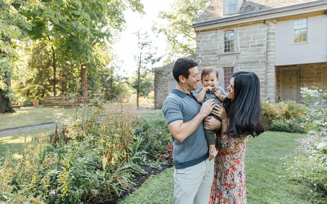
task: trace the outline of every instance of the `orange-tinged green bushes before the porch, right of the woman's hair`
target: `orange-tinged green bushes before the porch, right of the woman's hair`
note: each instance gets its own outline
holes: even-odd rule
[[[296,101],[282,101],[271,104],[261,102],[262,120],[270,131],[304,133],[308,108],[301,107]]]

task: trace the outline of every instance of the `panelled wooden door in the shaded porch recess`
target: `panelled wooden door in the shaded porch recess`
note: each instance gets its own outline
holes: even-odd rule
[[[282,99],[298,101],[298,70],[282,70]]]

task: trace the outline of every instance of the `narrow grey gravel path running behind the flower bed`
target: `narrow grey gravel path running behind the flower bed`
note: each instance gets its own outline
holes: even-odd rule
[[[160,113],[161,109],[147,109],[147,108],[140,108],[139,110],[136,110],[136,114],[144,114],[144,113]],[[58,125],[61,125],[60,123]],[[0,130],[0,136],[5,135],[5,134],[13,134],[13,133],[19,133],[22,131],[31,131],[31,130],[39,130],[43,128],[51,128],[54,127],[55,123],[54,122],[46,122],[42,124],[37,124],[37,125],[26,125],[26,126],[21,126],[21,127],[16,127],[16,128],[7,128],[7,129],[2,129]]]

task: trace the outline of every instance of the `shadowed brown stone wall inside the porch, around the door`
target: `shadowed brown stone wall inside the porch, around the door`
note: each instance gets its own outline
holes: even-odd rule
[[[317,86],[322,88],[323,75],[322,70],[327,67],[327,62],[311,63],[311,64],[298,64],[298,65],[285,65],[276,66],[276,91],[277,100],[281,101],[281,71],[287,69],[296,69],[299,73],[299,100],[302,100],[300,94],[301,87]]]

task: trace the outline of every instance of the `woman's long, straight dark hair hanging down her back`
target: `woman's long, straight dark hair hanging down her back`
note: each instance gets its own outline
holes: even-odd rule
[[[229,119],[224,134],[234,137],[258,136],[266,131],[262,124],[259,78],[251,71],[238,71],[232,77],[234,100],[226,98],[223,102]]]

